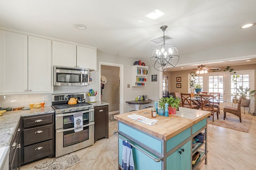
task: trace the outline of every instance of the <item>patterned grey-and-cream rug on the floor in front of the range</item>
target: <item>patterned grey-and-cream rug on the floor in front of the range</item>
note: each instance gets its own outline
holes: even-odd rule
[[[33,168],[30,168],[29,170],[65,170],[78,162],[81,162],[80,158],[72,152],[70,154],[45,161]]]

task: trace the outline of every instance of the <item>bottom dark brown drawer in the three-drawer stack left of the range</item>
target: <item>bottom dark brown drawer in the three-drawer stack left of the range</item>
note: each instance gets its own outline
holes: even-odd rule
[[[53,153],[52,140],[24,147],[24,163],[44,158]]]

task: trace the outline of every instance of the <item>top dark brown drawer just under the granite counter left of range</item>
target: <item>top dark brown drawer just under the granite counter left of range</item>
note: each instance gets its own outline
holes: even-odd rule
[[[47,123],[52,123],[52,114],[51,115],[42,115],[42,116],[33,116],[23,119],[23,127],[33,127],[38,125],[44,125]]]

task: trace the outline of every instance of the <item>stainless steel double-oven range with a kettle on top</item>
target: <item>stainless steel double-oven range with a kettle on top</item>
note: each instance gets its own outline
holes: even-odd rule
[[[56,152],[59,157],[94,144],[94,105],[78,103],[68,105],[70,97],[85,99],[85,93],[52,95],[55,110]],[[82,113],[83,130],[74,131],[74,114]]]

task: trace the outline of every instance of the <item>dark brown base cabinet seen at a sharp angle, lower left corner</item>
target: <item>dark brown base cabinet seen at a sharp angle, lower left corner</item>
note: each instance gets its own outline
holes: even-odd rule
[[[12,138],[10,145],[10,154],[9,154],[9,170],[19,170],[20,169],[20,138],[21,138],[21,124],[19,122],[18,127]]]

